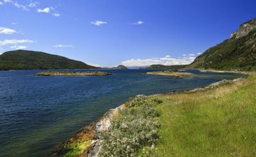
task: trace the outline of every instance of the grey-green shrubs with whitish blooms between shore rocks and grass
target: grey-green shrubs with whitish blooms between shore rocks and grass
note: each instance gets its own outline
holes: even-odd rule
[[[102,133],[100,156],[136,156],[136,151],[144,148],[148,154],[154,147],[157,128],[160,124],[155,109],[159,101],[149,101],[146,96],[138,95],[125,103],[126,107],[111,122],[111,128]]]

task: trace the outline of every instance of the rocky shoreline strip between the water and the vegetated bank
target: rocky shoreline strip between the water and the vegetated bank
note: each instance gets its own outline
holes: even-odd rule
[[[209,70],[207,70],[207,71],[209,71]],[[214,71],[214,72],[216,72],[216,71]],[[223,72],[226,72],[226,71],[223,71]],[[229,72],[229,71],[227,71],[227,72]],[[236,72],[236,73],[244,73],[244,74],[248,74],[248,75],[252,74],[252,73],[246,73],[246,72]],[[246,79],[247,78],[248,77],[246,77]],[[239,80],[239,79],[230,80],[230,82],[228,82],[228,84],[232,84],[232,83],[236,82],[235,80]],[[222,81],[223,80],[221,80],[219,82],[222,82]],[[219,82],[214,82],[205,87],[198,87],[195,89],[179,91],[177,93],[197,92],[198,91],[197,89],[201,89],[200,91],[207,90],[207,89],[213,89],[213,88],[209,88],[209,86],[218,84]],[[218,88],[218,87],[219,86],[216,86],[216,88]],[[170,92],[170,93],[161,93],[161,94],[150,94],[148,96],[154,96],[154,95],[160,95],[160,96],[163,95],[164,96],[167,94],[170,95],[170,94],[177,94],[177,93]],[[99,154],[99,151],[101,148],[101,146],[100,146],[101,140],[100,140],[99,134],[102,131],[106,131],[109,129],[109,127],[111,126],[111,121],[112,121],[113,117],[116,117],[120,113],[120,111],[123,110],[124,108],[125,108],[125,103],[116,108],[109,109],[108,112],[106,112],[101,117],[99,117],[99,119],[92,121],[92,123],[87,124],[86,126],[81,128],[79,131],[77,131],[77,133],[75,133],[75,135],[70,137],[66,142],[63,142],[63,144],[58,146],[55,149],[55,151],[52,153],[52,156],[62,156],[63,153],[67,152],[68,144],[81,142],[84,140],[86,140],[86,142],[90,142],[90,144],[88,144],[86,149],[84,149],[81,156],[97,156]]]

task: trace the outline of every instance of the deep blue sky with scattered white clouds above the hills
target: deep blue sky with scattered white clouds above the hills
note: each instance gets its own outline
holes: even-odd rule
[[[188,64],[255,18],[255,6],[255,0],[0,0],[0,54],[38,50],[104,67]]]

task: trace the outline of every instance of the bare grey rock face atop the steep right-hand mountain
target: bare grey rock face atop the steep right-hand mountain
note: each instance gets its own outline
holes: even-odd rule
[[[241,24],[239,29],[230,35],[230,38],[241,38],[242,36],[246,36],[250,31],[256,29],[256,19],[252,19],[244,24]]]

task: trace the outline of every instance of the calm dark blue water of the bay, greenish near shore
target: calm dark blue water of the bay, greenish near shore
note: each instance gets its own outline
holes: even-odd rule
[[[39,71],[0,71],[0,156],[47,156],[79,128],[136,94],[245,77],[197,70],[188,70],[196,75],[182,79],[140,74],[150,70],[100,70],[113,73],[103,77],[34,76]]]

